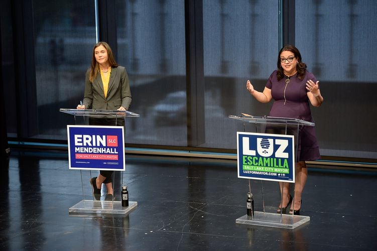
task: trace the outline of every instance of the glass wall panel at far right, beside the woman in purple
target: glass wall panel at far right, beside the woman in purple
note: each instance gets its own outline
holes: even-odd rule
[[[313,108],[321,155],[377,158],[377,5],[296,1],[296,46],[320,80]]]

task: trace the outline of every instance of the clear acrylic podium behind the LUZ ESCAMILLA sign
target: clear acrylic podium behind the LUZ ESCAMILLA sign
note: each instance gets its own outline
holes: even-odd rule
[[[295,156],[297,156],[297,141],[300,132],[300,127],[310,126],[314,127],[313,122],[308,122],[305,120],[297,118],[283,118],[283,117],[269,117],[269,116],[252,116],[244,114],[242,116],[229,115],[229,118],[237,119],[243,122],[243,131],[248,133],[271,133],[278,135],[293,135],[295,141]],[[296,160],[295,160],[296,161]],[[295,168],[293,169],[295,172]],[[270,181],[275,182],[275,181]],[[302,215],[289,215],[282,213],[270,213],[265,210],[265,200],[263,195],[263,180],[261,180],[262,185],[262,205],[263,212],[255,211],[254,216],[250,217],[243,215],[236,219],[236,223],[248,224],[248,225],[258,225],[258,226],[269,226],[278,228],[296,228],[308,221],[310,221],[309,216]],[[249,180],[249,191],[250,180]],[[256,201],[256,198],[254,197]],[[281,197],[281,201],[283,198]],[[294,203],[294,202],[292,202]]]

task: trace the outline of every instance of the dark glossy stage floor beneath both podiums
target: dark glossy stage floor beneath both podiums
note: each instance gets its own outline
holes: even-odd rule
[[[83,189],[67,152],[14,150],[1,167],[0,249],[377,250],[377,170],[309,168],[301,214],[310,221],[282,229],[235,223],[248,192],[236,161],[128,155],[126,166],[136,208],[69,214]],[[251,184],[261,211],[261,182]],[[266,211],[275,212],[278,184],[263,184]]]

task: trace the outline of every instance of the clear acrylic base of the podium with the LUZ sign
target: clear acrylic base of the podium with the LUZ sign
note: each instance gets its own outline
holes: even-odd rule
[[[245,214],[236,219],[235,223],[293,229],[308,221],[309,216],[254,212],[253,218]]]

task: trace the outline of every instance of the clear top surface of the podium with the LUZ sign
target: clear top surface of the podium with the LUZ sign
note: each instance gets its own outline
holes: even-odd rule
[[[298,118],[289,117],[270,117],[270,116],[252,116],[252,115],[229,115],[230,118],[242,120],[249,123],[265,123],[265,124],[289,124],[291,126],[311,126],[314,127],[315,123],[305,121]]]

